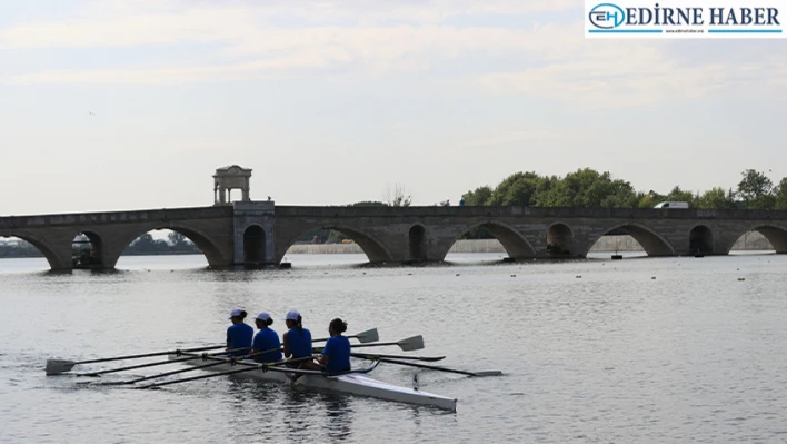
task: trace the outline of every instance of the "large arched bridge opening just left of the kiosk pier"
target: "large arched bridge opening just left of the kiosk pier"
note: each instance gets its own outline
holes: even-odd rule
[[[199,234],[188,229],[151,229],[131,239],[123,247],[116,267],[171,269],[205,266],[207,254],[200,245],[210,244]]]

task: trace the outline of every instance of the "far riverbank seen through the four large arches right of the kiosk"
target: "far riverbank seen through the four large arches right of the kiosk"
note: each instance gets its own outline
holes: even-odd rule
[[[733,250],[769,250],[774,246],[758,231],[749,231],[741,236],[733,246]],[[605,251],[642,251],[641,245],[634,237],[604,236],[590,248],[591,253]],[[291,246],[288,255],[299,254],[362,254],[363,250],[358,244],[299,244]],[[464,239],[457,240],[448,253],[506,253],[497,239]]]

